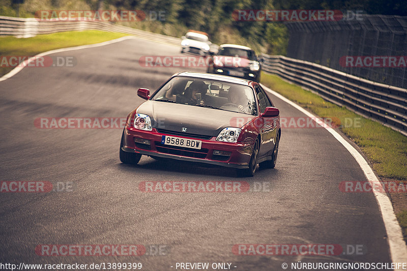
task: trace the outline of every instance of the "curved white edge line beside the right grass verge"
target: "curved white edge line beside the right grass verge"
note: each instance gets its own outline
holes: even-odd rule
[[[284,102],[288,103],[289,105],[297,108],[298,110],[300,110],[307,116],[311,117],[312,119],[316,119],[315,122],[324,123],[321,118],[316,117],[314,114],[308,112],[307,110],[305,110],[298,104],[288,100],[287,98],[280,95],[279,93],[272,91],[267,86],[265,86],[263,84],[261,84],[261,85],[271,94],[276,96],[277,98],[279,98],[279,99],[283,100]],[[348,150],[348,152],[350,152],[352,154],[352,156],[355,158],[356,162],[358,162],[363,173],[365,174],[370,185],[373,187],[373,185],[377,186],[377,184],[380,184],[379,179],[377,179],[373,170],[370,168],[369,164],[363,158],[363,156],[334,129],[327,127],[327,126],[324,126],[324,128],[327,129],[327,131],[330,132]],[[381,191],[383,191],[383,190],[381,190]],[[394,209],[390,202],[390,199],[386,193],[380,193],[380,192],[374,191],[373,194],[374,194],[374,197],[376,198],[377,204],[379,204],[380,212],[382,213],[383,222],[385,224],[385,228],[386,228],[386,232],[387,232],[387,240],[389,242],[389,247],[390,247],[390,257],[394,263],[406,262],[407,261],[407,247],[403,240],[401,228],[400,228],[400,225],[398,224],[396,215],[394,214]],[[395,269],[395,270],[402,270],[402,269]]]

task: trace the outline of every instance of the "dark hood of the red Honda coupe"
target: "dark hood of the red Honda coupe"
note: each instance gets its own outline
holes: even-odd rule
[[[137,108],[137,113],[150,116],[157,129],[188,134],[217,136],[225,127],[241,128],[255,116],[243,113],[199,107],[193,105],[146,101]]]

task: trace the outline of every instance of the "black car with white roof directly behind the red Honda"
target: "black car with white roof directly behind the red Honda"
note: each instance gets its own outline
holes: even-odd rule
[[[222,44],[212,56],[208,73],[235,76],[258,82],[263,59],[250,48],[236,44]]]

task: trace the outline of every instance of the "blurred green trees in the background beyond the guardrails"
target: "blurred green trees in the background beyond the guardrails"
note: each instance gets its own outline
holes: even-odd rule
[[[0,0],[0,15],[16,16],[17,4]],[[368,14],[407,15],[401,0],[25,0],[20,17],[38,10],[142,10],[163,12],[165,20],[120,22],[145,31],[181,37],[188,29],[207,32],[212,42],[248,45],[257,53],[286,54],[288,32],[281,22],[236,21],[236,10],[339,9]]]

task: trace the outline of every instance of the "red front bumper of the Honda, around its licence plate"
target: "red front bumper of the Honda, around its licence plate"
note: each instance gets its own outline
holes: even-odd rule
[[[211,139],[200,139],[194,137],[183,137],[194,140],[202,141],[201,149],[192,149],[187,147],[177,147],[164,145],[161,143],[163,135],[174,136],[172,134],[159,133],[153,128],[153,131],[142,131],[134,129],[126,125],[124,137],[124,146],[122,150],[127,153],[136,153],[147,156],[170,158],[182,161],[199,162],[206,164],[213,164],[225,167],[233,168],[248,168],[253,142],[219,142],[216,141],[216,137]],[[134,141],[134,139],[146,139],[150,140],[150,145],[140,144]],[[223,152],[230,152],[230,156],[215,155],[214,150],[221,150]]]

